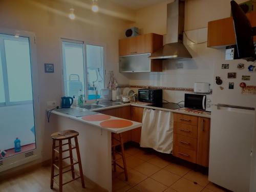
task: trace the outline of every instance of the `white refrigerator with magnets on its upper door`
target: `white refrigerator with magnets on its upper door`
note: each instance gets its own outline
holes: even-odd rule
[[[224,63],[229,64],[228,69],[222,69],[227,68]],[[244,69],[237,68],[239,63],[244,63]],[[256,86],[256,72],[247,69],[251,64],[223,60],[214,66],[214,78],[219,76],[223,82],[212,85],[209,181],[236,192],[256,191],[250,183],[256,165],[252,164],[256,95],[242,94],[239,86],[241,82]],[[228,73],[236,73],[230,75],[235,78],[228,78]],[[250,80],[242,80],[242,76]],[[233,89],[229,89],[232,83]]]

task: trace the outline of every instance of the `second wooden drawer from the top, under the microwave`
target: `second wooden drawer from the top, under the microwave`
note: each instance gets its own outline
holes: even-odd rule
[[[188,137],[197,138],[198,127],[180,122],[174,122],[174,133]]]

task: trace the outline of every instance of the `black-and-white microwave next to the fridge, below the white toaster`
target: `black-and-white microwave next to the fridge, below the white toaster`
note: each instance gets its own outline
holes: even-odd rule
[[[185,93],[185,108],[211,111],[211,94]]]

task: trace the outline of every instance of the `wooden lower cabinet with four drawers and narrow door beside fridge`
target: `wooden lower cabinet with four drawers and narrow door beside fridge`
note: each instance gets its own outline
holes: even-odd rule
[[[175,157],[208,166],[210,119],[174,113]]]

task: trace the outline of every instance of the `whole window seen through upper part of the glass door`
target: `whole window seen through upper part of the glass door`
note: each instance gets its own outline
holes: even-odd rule
[[[0,34],[0,103],[32,102],[28,37]]]

